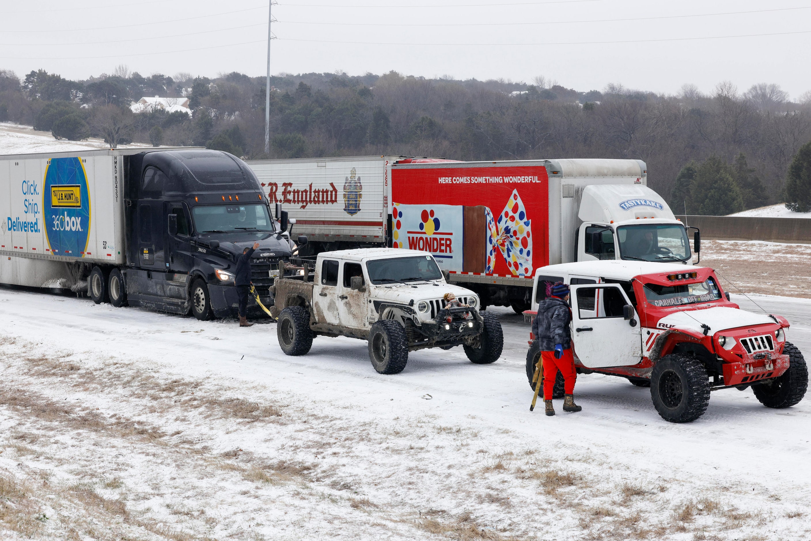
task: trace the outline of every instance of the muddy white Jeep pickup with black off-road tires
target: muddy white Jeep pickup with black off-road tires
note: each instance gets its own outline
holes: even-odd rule
[[[363,248],[292,259],[277,279],[271,309],[281,350],[306,354],[316,336],[369,342],[381,374],[397,374],[409,351],[463,346],[473,363],[493,363],[504,338],[494,314],[478,311],[473,291],[452,286],[425,251]],[[291,272],[294,276],[290,276]],[[462,305],[446,308],[444,294]]]

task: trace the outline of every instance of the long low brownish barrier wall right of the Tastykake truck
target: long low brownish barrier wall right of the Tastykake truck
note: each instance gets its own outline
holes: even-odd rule
[[[811,218],[757,218],[744,216],[676,216],[702,231],[702,238],[767,240],[811,243]]]

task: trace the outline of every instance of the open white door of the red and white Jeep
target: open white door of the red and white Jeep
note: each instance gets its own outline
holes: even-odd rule
[[[637,312],[616,284],[571,286],[572,337],[587,368],[632,366],[642,360]]]

